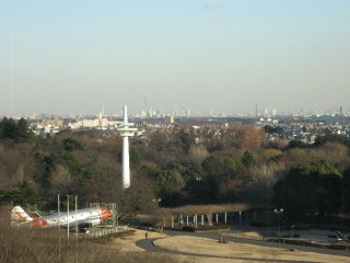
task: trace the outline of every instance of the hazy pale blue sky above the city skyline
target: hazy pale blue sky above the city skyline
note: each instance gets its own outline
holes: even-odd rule
[[[349,0],[0,0],[0,115],[350,108]]]

